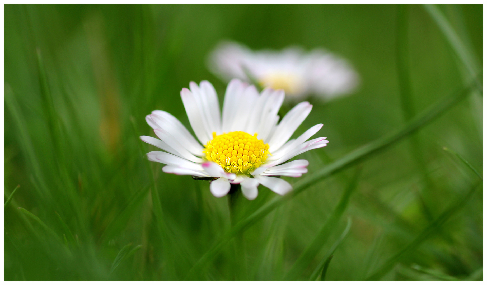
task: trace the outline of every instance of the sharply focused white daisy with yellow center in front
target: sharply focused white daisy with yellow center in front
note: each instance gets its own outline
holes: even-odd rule
[[[259,184],[284,195],[292,186],[272,176],[300,177],[307,172],[308,161],[281,163],[328,143],[326,138],[306,141],[323,124],[289,140],[312,105],[301,102],[278,124],[283,90],[268,88],[259,94],[255,86],[234,79],[225,91],[222,116],[217,94],[208,81],[199,86],[190,82],[189,89],[181,90],[181,98],[199,142],[178,119],[161,110],[146,116],[160,140],[148,136],[140,139],[165,151],[147,154],[149,160],[167,164],[162,171],[215,178],[210,191],[216,197],[228,194],[230,183],[240,184],[247,199],[257,197]]]

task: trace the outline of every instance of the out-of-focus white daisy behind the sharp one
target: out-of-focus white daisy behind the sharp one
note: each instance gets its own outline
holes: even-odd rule
[[[222,42],[210,53],[208,67],[225,81],[251,82],[250,75],[263,87],[283,89],[286,99],[294,101],[311,94],[328,101],[351,93],[359,81],[345,59],[323,49],[254,52],[235,42]]]

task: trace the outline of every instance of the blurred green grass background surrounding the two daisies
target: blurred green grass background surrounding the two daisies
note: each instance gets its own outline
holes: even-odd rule
[[[464,86],[467,77],[425,7],[403,8],[409,102],[419,112]],[[481,70],[482,5],[437,8]],[[323,123],[315,137],[330,143],[298,157],[310,161],[303,178],[408,119],[399,91],[395,5],[5,5],[4,11],[5,200],[20,185],[4,209],[5,280],[187,276],[230,228],[227,198],[212,196],[207,181],[163,173],[161,164],[144,156],[155,149],[138,136],[154,136],[144,119],[154,109],[189,126],[179,96],[189,81],[209,80],[223,102],[225,83],[205,64],[222,39],[252,49],[324,47],[360,74],[354,94],[327,104],[310,99],[313,110],[295,137]],[[368,278],[479,185],[444,146],[482,171],[478,92],[358,165],[345,212],[296,278],[310,278],[348,218],[350,233],[338,245],[326,280]],[[267,214],[196,279],[284,278],[331,216],[355,168]],[[240,197],[240,215],[274,196],[261,185],[256,200]],[[479,188],[380,278],[482,279],[482,238]]]

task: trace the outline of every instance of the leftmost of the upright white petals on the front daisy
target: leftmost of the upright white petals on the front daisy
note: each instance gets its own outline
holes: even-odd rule
[[[198,107],[198,102],[193,96],[193,93],[186,88],[181,90],[181,99],[183,100],[183,105],[186,109],[187,118],[189,124],[194,131],[194,134],[200,140],[201,143],[206,144],[211,137],[208,136],[206,131],[207,127],[205,125],[206,120],[203,118],[200,109]]]

